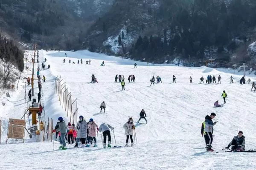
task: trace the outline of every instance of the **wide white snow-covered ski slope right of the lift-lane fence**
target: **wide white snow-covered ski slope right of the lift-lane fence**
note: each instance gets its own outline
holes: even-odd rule
[[[65,57],[67,53],[67,57]],[[47,76],[61,75],[70,88],[73,98],[78,98],[78,112],[88,121],[93,118],[100,125],[107,122],[115,129],[117,145],[124,146],[122,126],[133,116],[138,120],[142,109],[147,113],[148,124],[136,128],[138,144],[135,147],[101,149],[101,136],[98,148],[79,148],[56,151],[59,143],[52,142],[9,144],[0,146],[5,157],[1,157],[0,168],[6,169],[108,169],[108,170],[253,170],[256,169],[254,153],[226,153],[226,147],[239,130],[244,132],[246,149],[256,148],[255,96],[251,85],[240,85],[241,75],[233,75],[212,68],[186,68],[173,65],[153,65],[88,51],[40,51],[40,59],[47,58],[51,65]],[[63,63],[63,59],[66,63]],[[77,59],[83,59],[83,65]],[[69,64],[71,59],[76,64]],[[86,60],[91,59],[91,65]],[[102,61],[105,66],[100,66]],[[221,70],[221,69],[220,69]],[[44,74],[44,72],[42,73]],[[94,74],[99,83],[90,83]],[[125,91],[120,83],[114,83],[116,74],[125,77]],[[128,75],[134,74],[135,83],[128,82]],[[159,75],[163,83],[149,86],[149,80]],[[177,77],[172,83],[172,75]],[[221,75],[221,84],[199,84],[200,77]],[[230,84],[230,76],[235,82]],[[192,76],[193,83],[189,84]],[[248,79],[248,77],[246,77]],[[254,79],[254,77],[250,77]],[[54,85],[54,82],[51,85]],[[222,91],[227,92],[227,103],[223,108],[213,108],[219,99],[222,104]],[[52,116],[57,119],[62,114],[66,122],[69,118],[57,106],[56,96],[46,89],[45,108],[54,108]],[[48,96],[47,96],[48,95]],[[99,114],[102,101],[106,103],[106,113]],[[54,107],[55,106],[55,107]],[[218,153],[206,152],[201,136],[201,123],[204,117],[216,113],[218,123],[214,127],[213,149]],[[215,120],[215,121],[216,121]],[[141,120],[143,122],[143,120]],[[55,122],[56,123],[56,122]],[[112,146],[115,145],[111,132]],[[130,142],[130,141],[129,141]],[[15,160],[10,163],[9,159]],[[41,161],[39,161],[41,160]],[[37,162],[33,164],[32,162]],[[27,162],[31,162],[28,164]]]

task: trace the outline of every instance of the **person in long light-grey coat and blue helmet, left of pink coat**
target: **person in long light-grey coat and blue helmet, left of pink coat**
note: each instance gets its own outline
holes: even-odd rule
[[[88,125],[84,119],[84,116],[79,116],[79,121],[77,122],[76,129],[78,130],[78,137],[76,138],[75,147],[78,147],[79,139],[81,140],[82,147],[84,147],[88,129]]]

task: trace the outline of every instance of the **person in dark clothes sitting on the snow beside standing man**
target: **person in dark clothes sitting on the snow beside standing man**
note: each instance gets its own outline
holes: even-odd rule
[[[224,149],[229,149],[231,147],[231,151],[244,151],[245,150],[245,139],[243,132],[240,130],[237,136],[234,136],[232,141],[225,147]]]

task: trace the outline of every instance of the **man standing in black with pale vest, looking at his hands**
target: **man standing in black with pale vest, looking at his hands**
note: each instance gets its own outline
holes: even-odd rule
[[[218,122],[212,122],[212,119],[214,119],[215,116],[215,113],[211,113],[210,116],[205,116],[205,121],[202,123],[201,126],[201,135],[204,136],[207,151],[214,151],[212,149],[212,133],[213,126]]]

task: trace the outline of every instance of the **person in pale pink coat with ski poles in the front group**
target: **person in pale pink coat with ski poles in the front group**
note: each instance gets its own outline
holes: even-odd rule
[[[93,119],[90,119],[88,122],[88,127],[89,127],[89,133],[88,133],[88,143],[85,147],[90,147],[90,144],[92,144],[92,141],[94,140],[94,145],[93,147],[97,147],[97,142],[96,142],[96,130],[97,133],[99,131],[98,125],[93,121]]]

